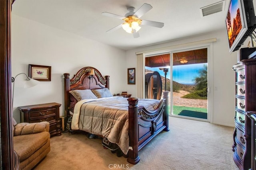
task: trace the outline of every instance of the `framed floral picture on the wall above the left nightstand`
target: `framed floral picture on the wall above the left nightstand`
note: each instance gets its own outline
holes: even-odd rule
[[[38,81],[51,81],[51,66],[28,64],[28,76]]]

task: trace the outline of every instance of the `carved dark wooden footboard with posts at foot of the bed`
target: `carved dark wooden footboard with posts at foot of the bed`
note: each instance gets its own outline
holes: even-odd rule
[[[138,98],[128,98],[129,106],[129,141],[130,149],[127,161],[137,164],[140,161],[138,151],[161,131],[169,131],[168,125],[168,94],[164,92],[164,99],[159,107],[152,112],[144,107],[138,108]]]

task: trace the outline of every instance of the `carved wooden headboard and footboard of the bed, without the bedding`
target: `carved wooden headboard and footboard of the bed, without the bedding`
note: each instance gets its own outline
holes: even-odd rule
[[[94,69],[94,75],[90,75]],[[93,67],[80,69],[73,78],[64,73],[65,114],[70,115],[70,90],[109,89],[109,76],[102,74]],[[137,164],[140,161],[138,151],[161,131],[169,131],[168,127],[168,93],[164,92],[163,99],[154,111],[148,111],[143,106],[138,107],[138,98],[128,98],[128,136],[129,150],[127,161]]]

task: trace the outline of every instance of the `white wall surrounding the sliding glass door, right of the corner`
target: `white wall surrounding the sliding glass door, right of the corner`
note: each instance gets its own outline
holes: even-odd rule
[[[229,53],[228,40],[225,30],[206,35],[180,39],[168,43],[152,45],[126,51],[126,63],[128,67],[136,67],[136,52],[181,45],[206,39],[216,38],[213,43],[213,116],[212,123],[226,126],[234,126],[234,108],[235,108],[235,73],[232,66],[237,63],[237,52]],[[186,45],[185,45],[186,46]],[[170,50],[176,50],[171,47]],[[135,85],[127,85],[127,90],[135,95]]]

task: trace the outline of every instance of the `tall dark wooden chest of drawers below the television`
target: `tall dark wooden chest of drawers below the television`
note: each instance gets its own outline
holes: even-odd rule
[[[251,168],[251,119],[246,111],[256,110],[256,59],[244,59],[233,66],[236,72],[234,162],[241,170]]]

